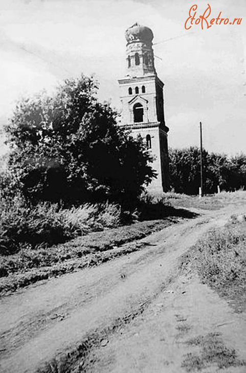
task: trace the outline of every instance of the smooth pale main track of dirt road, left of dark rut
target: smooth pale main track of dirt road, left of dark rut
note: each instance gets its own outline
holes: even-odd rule
[[[88,336],[142,312],[175,276],[178,258],[233,212],[206,212],[140,240],[138,252],[1,299],[1,371],[45,371]]]

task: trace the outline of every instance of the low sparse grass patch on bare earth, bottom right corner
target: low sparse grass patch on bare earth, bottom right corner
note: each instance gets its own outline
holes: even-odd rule
[[[185,355],[182,367],[188,372],[202,370],[216,364],[220,369],[230,366],[246,365],[245,361],[237,358],[234,348],[228,348],[223,343],[218,333],[209,333],[205,336],[198,336],[190,339],[188,345],[199,347],[199,353]]]

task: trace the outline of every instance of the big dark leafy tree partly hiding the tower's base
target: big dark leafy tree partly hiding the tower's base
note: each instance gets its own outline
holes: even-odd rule
[[[136,198],[155,176],[141,138],[117,124],[117,113],[96,97],[92,78],[66,80],[18,102],[6,126],[8,167],[32,202]]]

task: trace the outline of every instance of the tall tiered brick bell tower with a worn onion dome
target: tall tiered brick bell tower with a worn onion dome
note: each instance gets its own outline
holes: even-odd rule
[[[126,76],[119,80],[122,123],[133,136],[142,136],[154,156],[152,168],[158,173],[149,190],[168,190],[168,127],[164,120],[163,82],[156,75],[152,48],[153,33],[135,24],[125,32]]]

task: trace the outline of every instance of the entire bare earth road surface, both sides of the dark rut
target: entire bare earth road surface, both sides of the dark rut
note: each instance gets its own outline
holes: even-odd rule
[[[0,371],[182,372],[185,340],[214,331],[245,359],[245,315],[196,276],[179,276],[177,266],[208,229],[240,210],[246,206],[203,212],[141,240],[141,251],[2,298]],[[87,352],[91,362],[83,341],[95,347]]]

